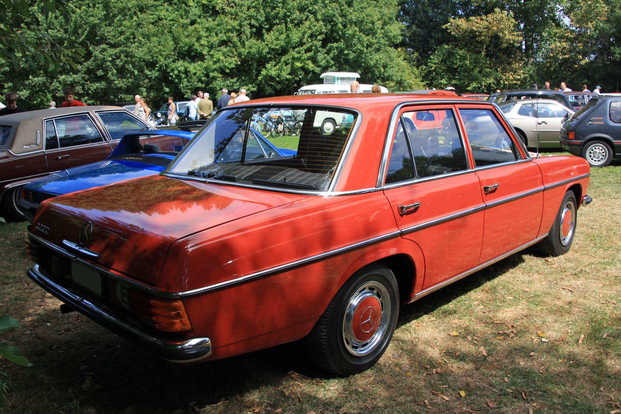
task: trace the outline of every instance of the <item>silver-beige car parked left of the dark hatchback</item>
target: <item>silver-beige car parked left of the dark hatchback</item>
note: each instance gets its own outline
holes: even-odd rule
[[[499,106],[524,144],[532,148],[560,147],[561,122],[574,113],[551,99],[519,99]]]

